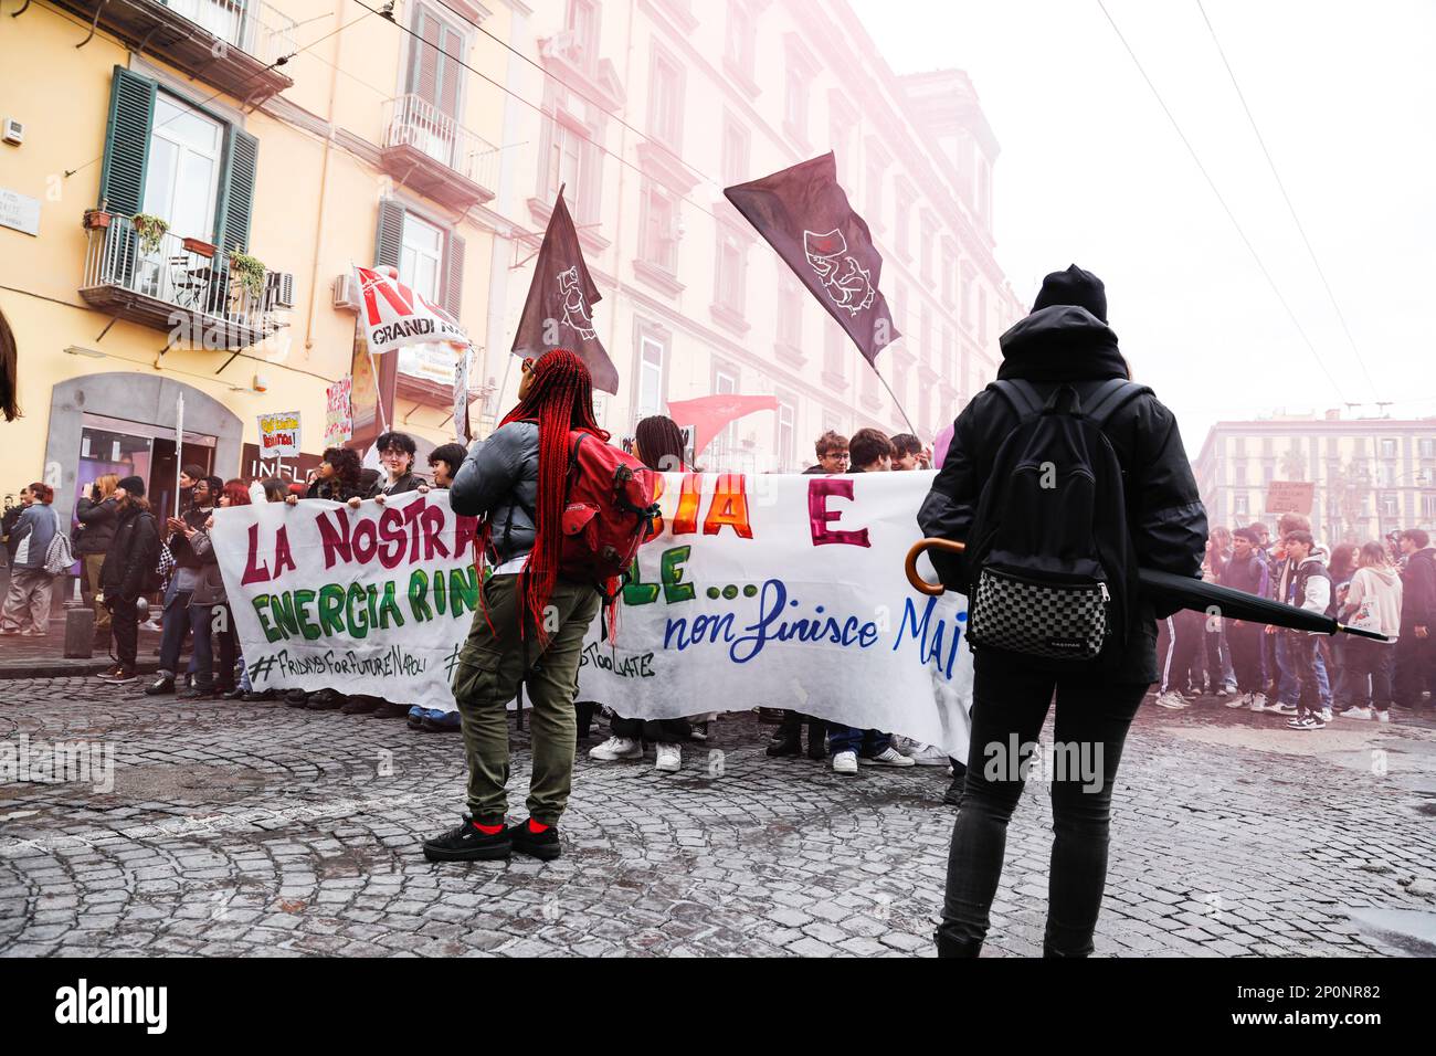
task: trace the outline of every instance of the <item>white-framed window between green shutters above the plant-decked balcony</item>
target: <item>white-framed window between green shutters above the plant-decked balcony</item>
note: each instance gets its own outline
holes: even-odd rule
[[[210,240],[220,190],[224,126],[164,92],[155,96],[144,211],[181,238]]]

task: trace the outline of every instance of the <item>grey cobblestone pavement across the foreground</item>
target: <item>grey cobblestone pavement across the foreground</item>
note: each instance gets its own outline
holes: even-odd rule
[[[1436,912],[1436,728],[1400,718],[1295,733],[1212,700],[1143,707],[1099,954],[1430,953],[1370,927]],[[561,859],[431,865],[421,840],[462,807],[455,734],[0,682],[4,738],[115,759],[112,790],[0,784],[0,954],[929,955],[943,769],[840,777],[767,759],[768,728],[721,717],[679,774],[580,753]],[[985,955],[1040,953],[1048,846],[1032,782]]]

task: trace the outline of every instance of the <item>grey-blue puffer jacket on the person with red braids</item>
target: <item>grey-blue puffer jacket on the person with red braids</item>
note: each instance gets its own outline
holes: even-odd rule
[[[538,425],[500,425],[475,440],[449,487],[454,513],[487,517],[490,559],[503,565],[534,549],[538,503]]]

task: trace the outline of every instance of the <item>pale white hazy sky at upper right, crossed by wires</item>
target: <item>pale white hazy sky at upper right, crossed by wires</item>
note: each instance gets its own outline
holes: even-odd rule
[[[1436,415],[1436,1],[1203,0],[1374,391],[1196,0],[1107,10],[1315,356],[1096,0],[852,3],[895,72],[968,70],[1002,148],[1012,289],[1031,303],[1073,261],[1101,276],[1123,351],[1192,457],[1213,421],[1279,407]]]

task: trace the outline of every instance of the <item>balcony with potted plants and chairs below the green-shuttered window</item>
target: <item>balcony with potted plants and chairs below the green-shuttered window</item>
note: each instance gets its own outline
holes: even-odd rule
[[[145,251],[129,217],[108,216],[108,226],[86,231],[80,296],[88,305],[201,348],[250,348],[284,326],[273,310],[289,276],[266,272],[264,292],[256,297],[231,277],[227,263],[215,261],[218,250],[165,233],[154,251]]]

